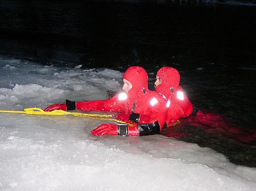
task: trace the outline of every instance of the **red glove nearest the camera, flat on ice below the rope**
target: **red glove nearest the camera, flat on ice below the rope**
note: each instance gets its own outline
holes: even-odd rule
[[[117,125],[102,124],[96,129],[92,130],[92,134],[102,137],[103,135],[117,135]]]

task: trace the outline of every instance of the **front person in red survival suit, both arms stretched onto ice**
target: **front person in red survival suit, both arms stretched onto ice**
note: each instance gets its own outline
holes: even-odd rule
[[[110,97],[108,100],[82,102],[66,100],[65,104],[53,104],[44,111],[80,109],[82,111],[119,112],[118,120],[135,124],[135,126],[102,124],[92,130],[92,134],[96,136],[158,134],[166,121],[166,99],[155,91],[148,90],[147,80],[147,73],[142,67],[131,66],[123,75],[122,89],[125,92]]]

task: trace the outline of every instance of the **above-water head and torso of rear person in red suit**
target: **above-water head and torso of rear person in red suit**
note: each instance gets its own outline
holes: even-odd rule
[[[193,105],[179,86],[180,74],[173,67],[162,67],[156,74],[155,91],[167,99],[167,126],[171,126],[180,117],[187,117],[193,112]]]

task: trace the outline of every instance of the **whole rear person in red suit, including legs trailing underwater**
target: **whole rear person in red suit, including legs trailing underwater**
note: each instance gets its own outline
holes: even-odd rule
[[[184,126],[195,126],[207,133],[224,135],[226,138],[236,139],[241,142],[250,143],[255,141],[256,133],[248,133],[242,129],[230,125],[220,114],[209,111],[194,111],[188,97],[179,86],[180,74],[173,67],[162,67],[156,74],[155,90],[167,97],[167,126],[172,126],[180,117],[184,117],[175,128],[167,128],[162,131],[163,135],[172,138],[180,138],[188,135],[180,128]],[[181,131],[180,131],[181,130]],[[218,136],[220,137],[220,136]]]

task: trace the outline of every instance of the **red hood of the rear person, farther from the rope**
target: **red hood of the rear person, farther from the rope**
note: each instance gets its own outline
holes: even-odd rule
[[[173,88],[174,91],[177,91],[177,87],[179,86],[179,83],[180,83],[179,71],[177,71],[173,67],[166,66],[158,70],[158,73],[156,74],[156,76],[162,80],[162,83],[160,83],[155,88],[155,91],[160,94],[163,94],[168,99],[168,97],[171,95],[171,88]]]

